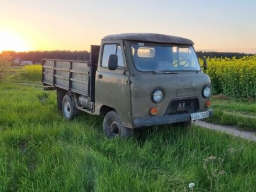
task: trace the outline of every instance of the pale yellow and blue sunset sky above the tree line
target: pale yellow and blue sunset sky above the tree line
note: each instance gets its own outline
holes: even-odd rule
[[[256,53],[254,0],[0,0],[3,50],[87,50],[116,33],[189,38],[197,51]]]

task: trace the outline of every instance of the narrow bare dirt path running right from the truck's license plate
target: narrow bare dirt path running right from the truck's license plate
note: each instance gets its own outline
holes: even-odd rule
[[[232,126],[223,126],[223,125],[215,125],[212,123],[202,122],[200,120],[197,120],[194,122],[194,125],[198,125],[207,129],[222,131],[227,134],[232,134],[233,136],[246,138],[251,141],[256,141],[256,134],[252,131],[246,131],[246,130],[239,130],[236,129],[236,127]]]

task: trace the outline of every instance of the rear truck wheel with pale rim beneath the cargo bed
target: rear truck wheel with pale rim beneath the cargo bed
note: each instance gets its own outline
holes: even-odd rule
[[[62,115],[66,120],[71,120],[74,118],[74,105],[72,98],[69,95],[65,95],[62,100]]]

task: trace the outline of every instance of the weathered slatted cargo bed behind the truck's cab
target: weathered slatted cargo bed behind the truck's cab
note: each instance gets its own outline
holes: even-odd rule
[[[42,83],[52,89],[85,95],[93,102],[99,48],[91,45],[90,61],[42,59]]]

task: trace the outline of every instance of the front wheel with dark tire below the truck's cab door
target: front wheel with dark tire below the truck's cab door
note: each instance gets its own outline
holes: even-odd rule
[[[134,130],[123,126],[118,113],[115,111],[109,111],[106,113],[103,121],[103,130],[108,138],[130,138],[134,136]]]

